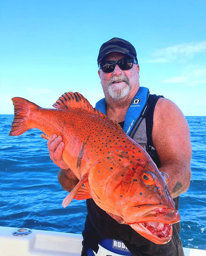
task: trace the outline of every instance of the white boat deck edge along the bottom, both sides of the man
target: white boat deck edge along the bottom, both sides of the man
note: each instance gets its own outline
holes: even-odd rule
[[[14,236],[12,235],[14,229],[16,228],[0,227],[1,256],[81,255],[82,235],[32,229],[29,235]],[[205,250],[183,249],[185,256],[206,256]]]

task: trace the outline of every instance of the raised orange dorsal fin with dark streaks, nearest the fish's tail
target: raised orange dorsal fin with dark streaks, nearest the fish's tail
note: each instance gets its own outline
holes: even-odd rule
[[[53,105],[54,108],[84,108],[96,112],[87,99],[79,92],[65,92]]]

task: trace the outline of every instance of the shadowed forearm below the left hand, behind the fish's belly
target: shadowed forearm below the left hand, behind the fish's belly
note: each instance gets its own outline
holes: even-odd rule
[[[58,173],[58,180],[59,180],[59,183],[61,184],[62,188],[69,192],[79,182],[79,179],[76,178],[76,176],[74,175],[74,173],[72,172],[71,169],[68,169],[68,170],[60,169],[59,173]]]

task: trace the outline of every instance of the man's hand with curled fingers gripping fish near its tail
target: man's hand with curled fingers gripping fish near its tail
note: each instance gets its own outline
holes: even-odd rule
[[[62,153],[65,146],[62,140],[63,140],[62,136],[57,136],[57,134],[54,134],[47,141],[47,146],[48,146],[49,155],[52,161],[61,169],[67,170],[69,169],[69,167],[62,158]]]

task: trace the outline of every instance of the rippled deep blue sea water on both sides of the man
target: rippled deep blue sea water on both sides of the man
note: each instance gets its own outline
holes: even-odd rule
[[[193,149],[192,178],[180,197],[180,237],[184,247],[206,250],[206,117],[186,118]],[[50,160],[41,131],[9,136],[13,115],[0,115],[0,120],[0,226],[80,234],[87,214],[85,200],[73,199],[63,209],[68,192],[58,182],[58,167]]]

